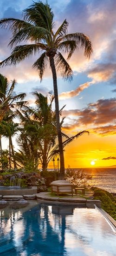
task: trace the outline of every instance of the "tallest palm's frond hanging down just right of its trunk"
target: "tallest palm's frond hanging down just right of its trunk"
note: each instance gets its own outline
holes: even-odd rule
[[[61,76],[65,80],[72,80],[73,71],[68,64],[68,62],[64,59],[63,55],[61,53],[57,53],[55,56],[55,64],[57,69],[60,71]]]

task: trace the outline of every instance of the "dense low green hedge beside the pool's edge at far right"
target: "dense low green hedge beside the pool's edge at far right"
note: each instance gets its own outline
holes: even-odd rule
[[[103,189],[94,188],[94,199],[98,199],[102,202],[102,208],[113,219],[116,220],[116,199],[115,197]]]

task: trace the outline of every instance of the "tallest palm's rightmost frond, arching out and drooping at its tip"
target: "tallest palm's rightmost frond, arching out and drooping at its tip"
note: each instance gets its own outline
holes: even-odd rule
[[[67,34],[64,36],[64,41],[70,41],[74,40],[76,41],[77,47],[78,48],[84,48],[84,56],[87,58],[90,58],[90,55],[93,52],[91,40],[89,36],[83,34],[83,33],[73,33],[73,34]],[[69,55],[68,58],[71,57],[71,54]]]

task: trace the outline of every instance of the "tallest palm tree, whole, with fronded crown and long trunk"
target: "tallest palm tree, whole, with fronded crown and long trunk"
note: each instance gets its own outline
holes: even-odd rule
[[[84,48],[84,55],[90,58],[92,45],[90,38],[83,33],[67,34],[68,22],[64,20],[54,32],[54,14],[47,3],[42,1],[33,2],[23,12],[23,20],[7,18],[0,20],[1,27],[9,28],[13,37],[9,45],[13,48],[11,55],[0,63],[1,66],[16,65],[32,54],[39,54],[39,58],[34,62],[33,67],[39,71],[42,80],[47,62],[50,62],[53,78],[53,88],[55,97],[58,145],[60,155],[60,178],[64,178],[64,152],[62,144],[62,133],[59,120],[58,87],[56,68],[61,76],[66,80],[71,80],[73,71],[64,59],[62,53],[66,53],[67,59],[78,48]],[[25,45],[17,45],[21,41],[32,41]]]

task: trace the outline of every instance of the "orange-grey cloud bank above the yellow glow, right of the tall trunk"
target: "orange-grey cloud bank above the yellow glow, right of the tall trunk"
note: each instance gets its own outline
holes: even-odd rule
[[[64,110],[63,115],[65,130],[81,128],[103,136],[116,135],[116,98],[98,100],[84,109]]]

